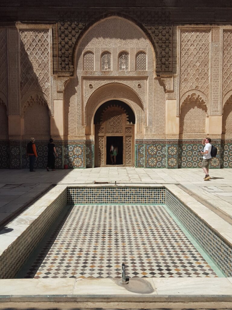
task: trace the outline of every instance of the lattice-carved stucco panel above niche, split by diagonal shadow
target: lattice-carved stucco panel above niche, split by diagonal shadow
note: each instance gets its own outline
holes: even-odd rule
[[[42,91],[53,115],[51,31],[50,26],[19,26],[20,91],[21,98],[30,91]]]

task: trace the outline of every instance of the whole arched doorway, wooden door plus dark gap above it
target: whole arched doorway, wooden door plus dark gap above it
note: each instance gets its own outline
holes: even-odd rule
[[[111,165],[110,146],[118,147],[116,166],[134,166],[135,114],[120,100],[102,104],[94,116],[95,167]]]

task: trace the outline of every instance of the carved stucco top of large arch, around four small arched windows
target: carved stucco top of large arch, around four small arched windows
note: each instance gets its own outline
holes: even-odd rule
[[[140,48],[146,53],[147,66],[145,70],[155,71],[156,54],[148,35],[134,22],[119,16],[110,16],[97,21],[89,27],[75,45],[74,70],[83,68],[83,55],[87,51],[95,53],[95,71],[101,71],[101,55],[105,51],[111,54],[111,71],[118,71],[118,52],[131,49],[131,66],[129,71],[135,71],[135,55]],[[116,53],[116,54],[115,54]],[[129,52],[128,52],[129,54]]]

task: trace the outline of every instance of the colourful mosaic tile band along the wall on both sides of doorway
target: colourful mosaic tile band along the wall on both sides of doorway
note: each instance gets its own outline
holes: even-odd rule
[[[29,168],[26,157],[28,141],[1,140],[0,168]],[[38,158],[35,168],[45,169],[47,164],[48,141],[37,140]],[[56,168],[92,168],[94,166],[94,145],[92,140],[54,141],[58,157]],[[232,167],[232,140],[214,140],[218,149],[210,168]],[[135,166],[143,168],[200,168],[203,146],[201,140],[135,140]]]

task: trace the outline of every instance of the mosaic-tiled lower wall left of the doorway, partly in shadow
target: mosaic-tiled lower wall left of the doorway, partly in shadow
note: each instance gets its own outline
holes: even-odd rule
[[[29,169],[29,158],[26,156],[26,140],[0,141],[0,168]],[[34,167],[45,169],[47,166],[48,141],[36,140],[37,159]],[[67,164],[68,168],[91,168],[94,164],[94,146],[92,140],[54,140],[58,157],[55,166],[62,169]]]

